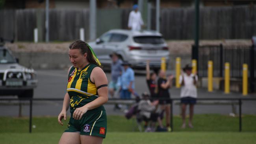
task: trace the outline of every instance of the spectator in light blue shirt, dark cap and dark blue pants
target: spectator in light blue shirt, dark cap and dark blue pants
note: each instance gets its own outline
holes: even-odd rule
[[[122,75],[120,77],[121,99],[130,99],[131,93],[134,93],[134,70],[130,68],[130,63],[124,61]]]

